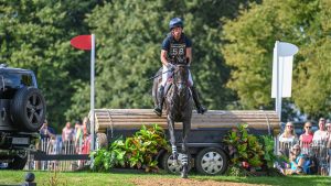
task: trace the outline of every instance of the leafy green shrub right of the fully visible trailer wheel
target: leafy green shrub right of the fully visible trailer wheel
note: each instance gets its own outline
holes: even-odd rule
[[[275,141],[271,135],[259,135],[257,138],[248,134],[247,128],[248,124],[238,124],[224,138],[232,157],[228,175],[249,176],[252,173],[246,171],[248,166],[253,169],[267,168],[269,172],[273,171],[276,162],[288,162],[285,156],[275,154]]]

